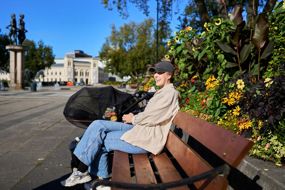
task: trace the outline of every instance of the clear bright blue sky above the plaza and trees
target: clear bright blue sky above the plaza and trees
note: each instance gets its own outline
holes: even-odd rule
[[[13,2],[13,3],[12,3]],[[10,24],[11,13],[24,14],[25,28],[28,30],[26,38],[29,40],[43,40],[46,45],[53,47],[56,58],[62,58],[66,52],[75,49],[83,50],[86,54],[98,56],[105,38],[110,35],[110,24],[122,26],[133,20],[141,22],[145,18],[135,6],[129,4],[129,18],[123,20],[116,8],[112,11],[104,9],[101,0],[28,0],[28,1],[1,1],[0,28],[8,33],[6,26]],[[176,1],[177,2],[177,1]],[[187,3],[187,0],[182,1]],[[180,12],[184,5],[181,3]],[[150,17],[156,19],[156,1],[150,0]],[[176,4],[173,6],[175,7]],[[174,32],[179,24],[178,15],[172,18],[171,28]],[[17,24],[18,26],[18,24]]]

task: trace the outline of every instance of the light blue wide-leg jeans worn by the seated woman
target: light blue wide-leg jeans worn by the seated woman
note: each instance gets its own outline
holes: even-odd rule
[[[108,152],[120,150],[130,154],[146,154],[146,150],[122,141],[121,136],[133,125],[96,120],[93,121],[74,150],[74,155],[89,166],[89,173],[98,177],[109,177]]]

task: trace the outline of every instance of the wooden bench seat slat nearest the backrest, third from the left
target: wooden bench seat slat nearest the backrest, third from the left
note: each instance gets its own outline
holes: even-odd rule
[[[159,172],[159,175],[161,176],[161,180],[163,181],[163,183],[182,180],[182,177],[175,169],[175,167],[173,166],[172,162],[170,161],[166,153],[162,153],[159,155],[152,154],[152,158],[154,160],[154,164]],[[171,190],[190,190],[190,189],[188,186],[184,185],[181,187],[172,188]]]

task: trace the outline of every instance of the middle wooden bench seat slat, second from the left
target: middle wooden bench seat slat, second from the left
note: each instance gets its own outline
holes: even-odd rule
[[[137,184],[156,184],[156,179],[147,154],[133,154]]]

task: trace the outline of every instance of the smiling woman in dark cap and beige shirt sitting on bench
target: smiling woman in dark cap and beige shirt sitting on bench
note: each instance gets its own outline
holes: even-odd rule
[[[167,140],[172,120],[179,110],[181,96],[173,86],[174,68],[172,64],[162,61],[149,68],[154,72],[156,86],[160,86],[149,100],[145,111],[134,116],[132,113],[122,117],[124,123],[95,120],[87,128],[81,141],[74,150],[73,173],[63,186],[85,183],[84,188],[91,189],[91,176],[95,180],[110,180],[108,173],[108,152],[120,150],[130,154],[159,154]],[[79,163],[79,164],[78,164]],[[89,172],[88,172],[89,171]],[[111,189],[99,186],[96,189]]]

